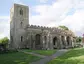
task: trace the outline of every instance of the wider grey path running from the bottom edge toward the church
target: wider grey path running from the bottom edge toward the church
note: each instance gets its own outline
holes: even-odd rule
[[[63,55],[64,53],[66,53],[68,50],[67,49],[61,49],[61,50],[58,50],[55,54],[53,54],[52,56],[47,56],[47,57],[44,57],[43,59],[41,60],[38,60],[36,62],[32,62],[30,64],[46,64],[47,62],[49,62],[50,60],[58,57],[58,56],[61,56]]]

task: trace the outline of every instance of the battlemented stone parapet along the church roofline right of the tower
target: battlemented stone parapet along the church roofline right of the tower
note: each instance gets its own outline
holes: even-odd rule
[[[43,30],[49,30],[51,33],[60,33],[64,35],[72,35],[73,32],[70,30],[64,30],[58,27],[46,27],[46,26],[39,26],[39,25],[27,25],[26,27],[28,28],[33,28],[33,29],[43,29]]]

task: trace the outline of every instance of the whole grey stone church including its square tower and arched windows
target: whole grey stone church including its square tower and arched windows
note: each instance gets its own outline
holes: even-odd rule
[[[29,24],[29,8],[14,4],[10,10],[11,49],[62,49],[74,47],[75,35],[70,30]]]

